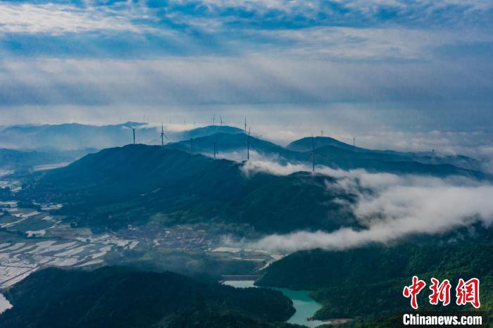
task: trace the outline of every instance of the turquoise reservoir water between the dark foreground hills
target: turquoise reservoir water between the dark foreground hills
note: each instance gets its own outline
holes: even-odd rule
[[[247,287],[255,287],[254,281],[227,281],[224,282],[229,286],[233,286],[236,288],[247,288]],[[292,289],[286,288],[274,288],[279,291],[282,291],[282,294],[291,298],[293,301],[293,307],[296,310],[296,313],[292,317],[287,320],[287,322],[291,324],[303,324],[307,327],[317,327],[320,324],[323,324],[322,321],[308,321],[307,317],[312,317],[318,309],[322,308],[320,303],[317,303],[313,298],[310,297],[310,291],[294,291]]]

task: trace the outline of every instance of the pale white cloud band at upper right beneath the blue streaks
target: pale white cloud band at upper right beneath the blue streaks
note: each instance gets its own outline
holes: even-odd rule
[[[439,47],[491,43],[481,30],[427,30],[406,27],[310,27],[298,30],[254,32],[289,53],[305,57],[339,60],[394,59],[430,60]]]

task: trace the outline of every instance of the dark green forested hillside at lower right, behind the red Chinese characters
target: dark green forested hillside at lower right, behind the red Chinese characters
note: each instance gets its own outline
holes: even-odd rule
[[[260,286],[279,286],[313,291],[322,303],[315,317],[380,318],[412,310],[402,296],[413,275],[430,284],[430,278],[481,281],[481,310],[493,310],[493,244],[442,246],[400,245],[366,247],[348,251],[301,251],[266,269]],[[428,303],[428,292],[418,296],[420,310],[443,310]],[[451,304],[447,310],[472,310]]]

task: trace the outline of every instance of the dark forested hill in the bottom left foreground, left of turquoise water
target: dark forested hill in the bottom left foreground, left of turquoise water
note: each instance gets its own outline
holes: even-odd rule
[[[292,301],[273,289],[235,289],[173,272],[49,268],[6,292],[1,328],[289,327]],[[292,327],[292,326],[291,326]]]

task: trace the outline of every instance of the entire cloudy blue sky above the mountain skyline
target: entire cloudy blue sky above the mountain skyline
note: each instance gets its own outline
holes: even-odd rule
[[[0,125],[211,123],[493,158],[490,0],[0,1]]]

